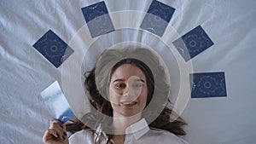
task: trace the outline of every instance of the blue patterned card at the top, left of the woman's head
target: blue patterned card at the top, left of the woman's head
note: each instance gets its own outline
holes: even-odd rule
[[[114,31],[112,20],[104,2],[84,7],[82,8],[82,12],[91,37],[97,37]]]

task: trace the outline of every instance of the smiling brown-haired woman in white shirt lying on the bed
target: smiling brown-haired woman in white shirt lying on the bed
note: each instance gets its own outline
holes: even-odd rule
[[[186,123],[166,107],[170,90],[166,73],[152,50],[130,47],[104,51],[84,83],[95,111],[80,119],[83,123],[78,119],[72,124],[51,121],[43,141],[186,143],[177,136],[186,135]],[[74,133],[69,140],[66,130]]]

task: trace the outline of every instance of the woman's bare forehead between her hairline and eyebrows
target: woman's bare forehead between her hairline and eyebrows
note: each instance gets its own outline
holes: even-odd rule
[[[145,79],[145,74],[143,71],[135,65],[132,64],[123,64],[119,66],[114,72],[111,77],[113,78],[130,78],[131,76],[137,76],[138,78]]]

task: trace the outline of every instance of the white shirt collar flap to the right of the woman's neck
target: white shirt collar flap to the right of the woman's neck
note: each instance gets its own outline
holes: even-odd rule
[[[140,121],[138,121],[135,124],[131,124],[128,128],[125,130],[126,135],[134,135],[134,137],[138,140],[140,137],[142,137],[144,134],[146,134],[149,130],[148,123],[144,118],[142,118]]]

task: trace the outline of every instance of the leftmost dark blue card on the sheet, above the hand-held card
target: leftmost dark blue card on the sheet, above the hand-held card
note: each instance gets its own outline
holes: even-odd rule
[[[62,62],[73,53],[73,49],[51,30],[46,32],[38,42],[34,43],[33,47],[55,67],[61,66]]]

